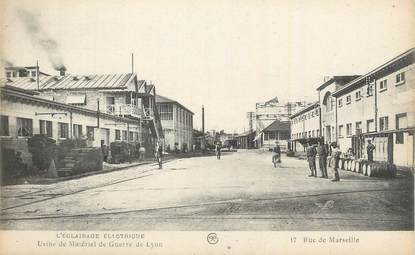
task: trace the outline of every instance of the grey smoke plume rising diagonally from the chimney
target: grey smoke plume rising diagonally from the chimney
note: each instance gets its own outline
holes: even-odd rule
[[[58,42],[44,31],[38,17],[23,9],[19,9],[17,15],[30,36],[32,43],[46,52],[53,68],[58,71],[66,70]]]

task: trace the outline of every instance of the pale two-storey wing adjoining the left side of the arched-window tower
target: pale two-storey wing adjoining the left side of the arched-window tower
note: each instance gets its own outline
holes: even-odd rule
[[[320,107],[315,102],[290,116],[291,140],[290,149],[305,151],[305,143],[319,140],[320,134]],[[313,141],[313,142],[315,142]]]

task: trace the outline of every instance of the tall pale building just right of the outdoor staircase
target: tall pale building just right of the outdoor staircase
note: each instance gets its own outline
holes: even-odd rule
[[[176,100],[157,95],[157,109],[167,150],[193,150],[193,112]]]

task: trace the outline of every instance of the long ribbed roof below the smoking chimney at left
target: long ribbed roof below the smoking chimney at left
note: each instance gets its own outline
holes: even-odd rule
[[[78,89],[125,89],[135,74],[66,75],[39,77],[40,90]],[[37,90],[36,79],[30,77],[10,78],[7,85]]]

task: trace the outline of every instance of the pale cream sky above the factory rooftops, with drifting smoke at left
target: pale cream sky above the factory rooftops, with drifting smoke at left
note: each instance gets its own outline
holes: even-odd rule
[[[195,128],[204,105],[205,129],[227,132],[248,128],[256,102],[315,101],[324,76],[367,73],[415,41],[410,0],[0,2],[3,64],[128,73],[134,53],[139,79]]]

